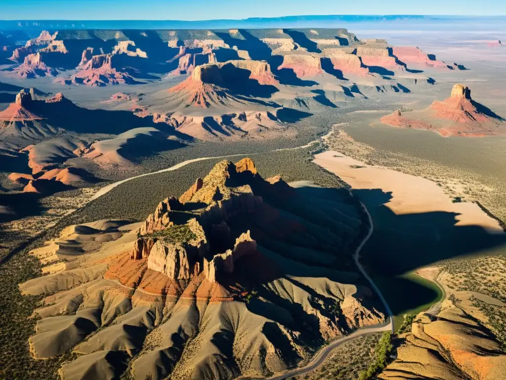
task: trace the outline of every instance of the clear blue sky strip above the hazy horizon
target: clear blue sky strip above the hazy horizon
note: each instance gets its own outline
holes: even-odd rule
[[[0,0],[2,20],[210,20],[330,14],[506,15],[506,0]]]

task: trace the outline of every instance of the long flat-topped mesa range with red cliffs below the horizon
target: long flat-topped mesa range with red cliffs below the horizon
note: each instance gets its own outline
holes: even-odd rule
[[[66,30],[43,31],[14,49],[10,59],[20,64],[7,69],[21,77],[62,77],[59,71],[76,68],[70,78],[59,81],[90,86],[137,84],[166,74],[191,74],[197,66],[239,60],[266,61],[271,73],[256,66],[261,71],[252,79],[271,85],[311,86],[313,81],[301,79],[325,72],[345,80],[347,75],[385,79],[409,71],[410,65],[462,69],[461,65],[445,66],[418,48],[389,47],[381,39],[360,41],[346,29],[116,31],[114,37],[110,31],[83,31],[82,37]]]

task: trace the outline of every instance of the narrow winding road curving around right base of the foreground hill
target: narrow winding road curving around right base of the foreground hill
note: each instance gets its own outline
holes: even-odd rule
[[[331,341],[331,343],[328,346],[325,346],[320,351],[318,351],[318,353],[313,357],[313,359],[304,367],[292,369],[292,370],[287,371],[281,375],[266,377],[264,380],[284,380],[289,377],[303,375],[305,373],[313,371],[315,368],[320,366],[323,363],[323,361],[327,358],[328,354],[330,354],[332,352],[332,350],[334,350],[335,348],[338,348],[339,346],[341,346],[343,343],[346,343],[347,341],[355,339],[361,335],[372,334],[375,332],[381,332],[381,331],[390,331],[392,333],[394,332],[394,317],[392,315],[392,311],[390,310],[390,307],[388,306],[387,300],[385,299],[385,297],[383,296],[381,291],[379,291],[378,287],[376,286],[376,284],[374,284],[374,282],[372,281],[370,276],[367,274],[367,272],[365,272],[364,268],[362,267],[362,264],[359,261],[360,251],[362,250],[365,243],[367,243],[367,241],[371,237],[372,231],[374,228],[373,224],[372,224],[372,218],[371,218],[371,215],[369,214],[369,211],[367,211],[367,208],[365,207],[365,205],[362,202],[360,202],[360,205],[362,206],[363,211],[367,215],[367,219],[369,221],[369,231],[367,232],[367,235],[362,240],[360,245],[355,250],[355,253],[353,254],[353,259],[354,259],[355,264],[357,265],[357,268],[360,271],[360,273],[362,273],[362,275],[367,279],[370,286],[377,293],[379,299],[381,299],[381,301],[383,302],[383,306],[385,307],[385,311],[387,312],[387,315],[388,315],[388,320],[381,325],[362,327],[362,328],[359,328],[358,330],[355,330],[354,332],[352,332],[349,335],[343,336],[339,339],[335,339],[335,340]],[[236,380],[260,380],[260,379],[254,378],[254,377],[237,377]]]

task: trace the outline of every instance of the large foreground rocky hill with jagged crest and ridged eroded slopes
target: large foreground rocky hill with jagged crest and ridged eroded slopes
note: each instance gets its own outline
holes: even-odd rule
[[[46,295],[32,355],[73,350],[64,379],[126,365],[142,379],[266,376],[381,323],[351,260],[360,207],[339,194],[265,180],[246,158],[220,162],[135,226],[67,227],[31,252],[46,276],[20,284]]]

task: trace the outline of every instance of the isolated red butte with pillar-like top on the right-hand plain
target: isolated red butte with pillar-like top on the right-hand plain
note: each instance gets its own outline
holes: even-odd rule
[[[503,122],[489,108],[471,98],[471,90],[461,84],[451,89],[450,97],[438,101],[421,111],[401,112],[381,118],[387,125],[436,131],[443,136],[485,136],[501,130],[496,127]]]

